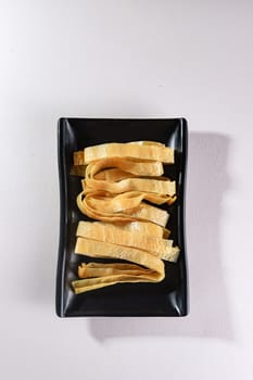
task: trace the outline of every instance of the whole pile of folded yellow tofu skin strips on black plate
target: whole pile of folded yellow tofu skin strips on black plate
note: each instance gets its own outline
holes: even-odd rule
[[[83,187],[77,206],[91,218],[78,223],[75,254],[102,261],[78,266],[76,294],[124,282],[157,283],[165,278],[164,261],[177,262],[180,251],[166,229],[169,214],[161,207],[177,199],[176,182],[163,176],[174,154],[156,141],[73,153],[71,174],[81,177]]]

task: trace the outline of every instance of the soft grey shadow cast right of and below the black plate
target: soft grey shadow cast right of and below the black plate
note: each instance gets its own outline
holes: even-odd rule
[[[223,273],[223,200],[229,188],[229,138],[191,132],[187,174],[187,254],[190,314],[182,318],[90,318],[99,341],[121,337],[199,337],[233,340]]]

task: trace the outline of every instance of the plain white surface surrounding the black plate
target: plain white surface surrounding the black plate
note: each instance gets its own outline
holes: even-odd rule
[[[0,378],[252,379],[253,2],[0,7]],[[188,317],[55,316],[60,116],[188,119]]]

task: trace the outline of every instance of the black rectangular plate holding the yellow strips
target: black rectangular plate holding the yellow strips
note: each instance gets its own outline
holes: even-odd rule
[[[185,250],[185,177],[187,162],[187,122],[174,119],[61,118],[58,127],[61,193],[60,244],[56,276],[56,314],[77,316],[185,316],[187,271]],[[176,264],[165,263],[165,280],[160,283],[121,283],[75,295],[71,281],[84,256],[74,254],[78,220],[88,219],[76,205],[81,191],[80,178],[69,175],[73,152],[105,142],[153,140],[175,149],[175,165],[165,175],[177,181],[178,200],[165,206],[170,217],[167,228],[180,248]]]

